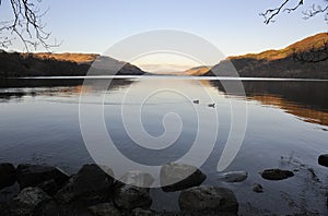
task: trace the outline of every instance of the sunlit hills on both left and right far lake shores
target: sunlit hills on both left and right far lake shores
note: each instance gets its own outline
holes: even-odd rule
[[[280,50],[229,57],[214,67],[197,67],[175,75],[235,76],[230,73],[232,65],[242,77],[328,79],[328,34],[307,37]],[[90,68],[94,75],[147,73],[130,63],[96,53],[0,51],[0,77],[83,76]]]

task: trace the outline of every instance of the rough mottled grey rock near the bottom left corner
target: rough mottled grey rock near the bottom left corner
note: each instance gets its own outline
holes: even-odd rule
[[[10,201],[10,212],[12,215],[27,216],[31,215],[38,205],[49,202],[50,200],[51,197],[38,188],[25,188]]]

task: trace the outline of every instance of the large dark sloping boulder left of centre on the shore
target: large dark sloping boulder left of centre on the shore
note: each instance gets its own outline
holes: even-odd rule
[[[110,188],[114,184],[113,171],[107,168],[106,173],[97,165],[84,165],[80,171],[71,177],[69,182],[60,189],[55,197],[62,203],[69,203],[74,199],[87,196],[109,195]],[[102,197],[101,197],[102,199]]]

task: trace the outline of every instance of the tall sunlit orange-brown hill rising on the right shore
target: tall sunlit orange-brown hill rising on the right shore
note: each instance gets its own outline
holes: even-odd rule
[[[233,76],[232,64],[242,77],[328,79],[328,34],[320,33],[280,50],[229,57],[204,76]]]

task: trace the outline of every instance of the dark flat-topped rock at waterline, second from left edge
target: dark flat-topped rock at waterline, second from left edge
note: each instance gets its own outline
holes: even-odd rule
[[[21,189],[36,187],[37,184],[54,179],[58,185],[62,185],[69,176],[62,170],[48,165],[19,165],[17,182]]]

